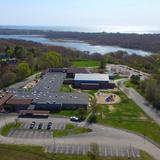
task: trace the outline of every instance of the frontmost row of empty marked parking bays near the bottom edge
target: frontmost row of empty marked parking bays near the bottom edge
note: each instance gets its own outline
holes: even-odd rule
[[[77,154],[85,155],[90,150],[90,145],[71,145],[71,144],[56,144],[45,146],[48,152],[63,153],[63,154]],[[133,147],[112,147],[112,146],[99,146],[99,154],[104,157],[140,157],[138,149]]]

